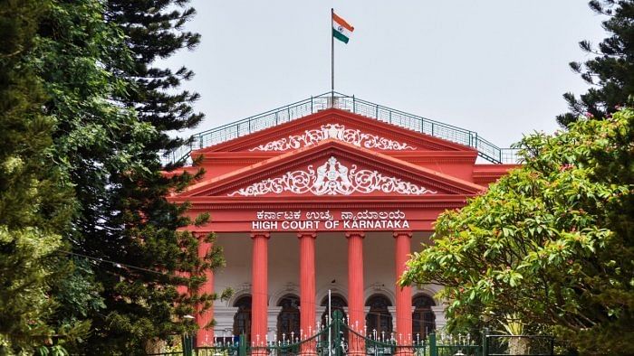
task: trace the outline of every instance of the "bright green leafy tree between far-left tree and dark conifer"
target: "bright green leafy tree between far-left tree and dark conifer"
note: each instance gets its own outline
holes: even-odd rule
[[[154,129],[139,122],[134,110],[122,108],[112,99],[128,84],[117,79],[107,66],[130,61],[130,54],[125,50],[120,29],[105,21],[101,1],[51,1],[42,11],[37,46],[28,64],[42,81],[46,95],[43,112],[54,119],[53,162],[66,174],[64,183],[72,188],[75,197],[77,215],[64,238],[72,253],[107,258],[99,244],[93,244],[94,239],[108,233],[102,223],[102,217],[107,215],[101,208],[116,188],[113,177],[144,169],[138,157],[143,154],[143,142],[153,135]],[[106,245],[108,241],[101,239],[101,243]],[[96,252],[89,246],[96,247]],[[103,302],[108,301],[108,280],[92,275],[101,271],[104,264],[95,264],[94,259],[75,260],[77,268],[72,275],[53,289],[61,304],[56,321],[89,318],[91,335],[101,335],[104,332],[97,322],[98,316],[107,313],[102,308]],[[90,350],[84,352],[94,354]]]

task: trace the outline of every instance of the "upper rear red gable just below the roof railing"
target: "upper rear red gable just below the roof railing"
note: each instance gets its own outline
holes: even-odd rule
[[[474,151],[434,136],[408,130],[351,112],[329,108],[251,135],[197,150],[212,152],[284,153],[336,139],[373,151]]]

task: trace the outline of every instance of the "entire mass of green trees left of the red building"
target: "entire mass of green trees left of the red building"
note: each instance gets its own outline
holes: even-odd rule
[[[0,0],[0,354],[145,354],[216,298],[196,291],[219,248],[198,258],[177,231],[186,207],[165,199],[197,176],[163,175],[158,155],[202,118],[178,90],[193,73],[154,65],[197,43],[182,30],[194,14]]]

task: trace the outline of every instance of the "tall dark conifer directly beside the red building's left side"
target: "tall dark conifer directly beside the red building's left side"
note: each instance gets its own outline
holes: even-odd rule
[[[178,89],[181,80],[193,73],[156,64],[180,49],[193,49],[199,41],[197,33],[182,29],[195,14],[186,5],[182,0],[106,3],[105,19],[121,29],[130,54],[130,59],[116,56],[105,63],[126,88],[113,92],[112,98],[134,111],[139,125],[150,131],[139,142],[135,137],[119,138],[142,148],[130,169],[108,173],[109,188],[94,210],[96,219],[91,220],[100,228],[91,231],[92,238],[81,245],[86,254],[123,264],[105,264],[98,271],[108,313],[104,317],[96,314],[93,320],[97,332],[89,342],[93,352],[130,352],[132,346],[138,351],[158,351],[160,340],[192,330],[193,325],[182,316],[201,312],[195,309],[196,303],[207,309],[216,298],[196,291],[205,280],[202,270],[223,263],[220,249],[212,249],[207,258],[197,258],[197,239],[177,232],[189,223],[180,217],[185,207],[166,200],[169,192],[182,189],[197,175],[166,177],[158,155],[159,150],[184,143],[168,136],[168,131],[195,127],[203,118],[192,108],[198,94]],[[182,272],[191,277],[175,277]],[[178,295],[179,285],[188,286],[190,293]]]

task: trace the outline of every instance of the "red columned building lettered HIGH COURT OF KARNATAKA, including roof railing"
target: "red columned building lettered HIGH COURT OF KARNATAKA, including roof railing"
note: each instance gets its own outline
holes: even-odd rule
[[[408,255],[434,221],[514,167],[475,132],[347,97],[306,99],[195,136],[206,173],[171,201],[210,214],[226,267],[205,292],[234,289],[197,315],[197,344],[245,334],[302,338],[325,323],[328,293],[364,333],[411,340],[445,324],[441,286],[400,288]],[[510,158],[510,159],[509,159]],[[209,244],[201,243],[201,255]]]

